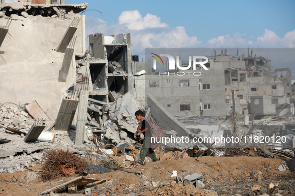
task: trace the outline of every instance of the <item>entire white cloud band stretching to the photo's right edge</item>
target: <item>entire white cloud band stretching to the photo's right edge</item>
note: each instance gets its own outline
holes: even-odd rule
[[[160,17],[150,13],[142,17],[138,10],[123,11],[115,24],[87,16],[86,34],[94,33],[130,33],[133,54],[144,54],[145,48],[295,48],[295,30],[281,38],[275,32],[265,29],[264,34],[256,40],[254,35],[246,33],[220,35],[202,44],[197,36],[189,36],[185,27],[170,28],[161,22]]]

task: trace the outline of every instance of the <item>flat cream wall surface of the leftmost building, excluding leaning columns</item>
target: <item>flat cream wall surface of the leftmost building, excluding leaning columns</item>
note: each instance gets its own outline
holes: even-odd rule
[[[8,19],[3,14],[6,7],[6,4],[1,7],[0,25]],[[7,62],[0,65],[0,102],[24,104],[37,100],[44,111],[48,110],[49,117],[55,118],[63,93],[75,83],[76,78],[73,56],[74,66],[71,65],[66,83],[58,82],[64,53],[56,52],[56,47],[75,16],[73,13],[70,15],[71,19],[56,15],[11,15],[12,22],[8,30],[11,37],[6,37],[0,47],[0,55]],[[85,53],[84,25],[85,17],[75,33],[77,41],[74,54]]]

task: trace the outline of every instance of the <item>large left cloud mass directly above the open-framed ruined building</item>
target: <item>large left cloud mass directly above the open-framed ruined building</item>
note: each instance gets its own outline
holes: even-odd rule
[[[86,17],[86,34],[130,32],[133,54],[144,54],[145,48],[185,48],[201,44],[196,36],[188,36],[183,26],[170,28],[160,17],[150,13],[142,18],[138,10],[123,11],[118,21],[108,25],[100,18]]]

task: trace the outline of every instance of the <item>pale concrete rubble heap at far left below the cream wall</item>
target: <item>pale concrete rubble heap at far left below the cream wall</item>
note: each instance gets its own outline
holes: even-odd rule
[[[25,105],[1,104],[0,124],[28,133],[35,123],[34,119],[24,109]],[[50,128],[50,123],[48,123]],[[50,130],[48,130],[50,131]],[[48,142],[24,142],[24,135],[18,135],[4,128],[0,128],[0,139],[10,140],[0,145],[0,173],[7,174],[15,171],[24,171],[27,168],[41,162],[41,150],[48,148],[74,149],[74,130],[68,132],[56,131],[54,143]],[[76,148],[77,151],[78,148]],[[79,149],[80,150],[80,149]],[[81,151],[78,153],[82,153]],[[82,149],[82,151],[84,151]]]

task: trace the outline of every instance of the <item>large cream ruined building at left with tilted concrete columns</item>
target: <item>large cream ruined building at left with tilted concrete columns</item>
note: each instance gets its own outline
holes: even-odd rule
[[[0,28],[6,34],[1,33],[0,102],[37,100],[54,118],[63,95],[76,83],[75,56],[86,52],[85,15],[76,13],[88,4],[1,2]]]

